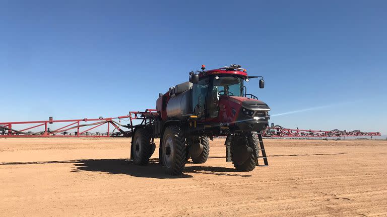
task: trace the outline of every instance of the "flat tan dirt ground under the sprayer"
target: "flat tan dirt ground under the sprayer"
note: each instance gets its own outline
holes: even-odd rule
[[[269,167],[235,171],[216,139],[175,177],[130,139],[1,138],[0,216],[387,216],[387,141],[265,143]]]

